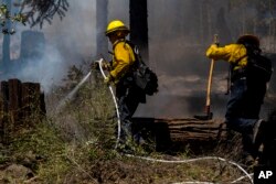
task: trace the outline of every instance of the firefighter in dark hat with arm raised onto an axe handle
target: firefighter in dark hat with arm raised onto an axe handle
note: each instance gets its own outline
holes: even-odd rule
[[[263,143],[264,132],[269,127],[267,121],[259,119],[259,110],[272,69],[265,74],[252,72],[254,69],[251,69],[251,61],[263,59],[269,68],[269,59],[261,55],[259,40],[251,34],[242,35],[236,43],[224,47],[212,44],[206,56],[231,64],[231,96],[226,106],[225,122],[230,129],[242,133],[243,159],[245,164],[252,165]]]

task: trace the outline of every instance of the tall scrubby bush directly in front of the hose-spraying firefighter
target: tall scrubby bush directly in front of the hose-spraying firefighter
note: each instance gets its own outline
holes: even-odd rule
[[[103,83],[86,83],[74,99],[67,101],[61,115],[57,120],[61,121],[60,125],[66,127],[64,130],[68,130],[68,134],[75,134],[74,138],[70,136],[71,139],[97,140],[102,145],[114,143],[115,107],[108,88]],[[63,125],[68,117],[71,121]],[[74,130],[70,130],[70,127],[74,127]]]

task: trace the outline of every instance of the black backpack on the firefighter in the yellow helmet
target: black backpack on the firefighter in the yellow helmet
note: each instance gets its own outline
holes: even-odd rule
[[[135,64],[134,64],[134,80],[135,84],[141,88],[145,94],[152,96],[158,91],[158,77],[156,73],[149,68],[142,61],[139,50],[136,45],[129,43],[134,50]]]

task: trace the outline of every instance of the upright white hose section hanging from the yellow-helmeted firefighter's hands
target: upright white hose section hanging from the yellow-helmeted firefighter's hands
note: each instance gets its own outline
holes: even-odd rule
[[[100,59],[98,59],[98,61],[96,61],[96,62],[97,62],[98,65],[99,65],[99,71],[100,71],[103,77],[106,78],[105,72],[104,72],[104,69],[103,69],[103,67],[102,67],[103,61],[104,61],[104,59],[100,58]],[[118,143],[119,143],[119,138],[120,138],[120,115],[119,115],[118,104],[117,104],[116,97],[115,97],[114,91],[113,91],[113,87],[109,85],[108,88],[109,88],[109,90],[110,90],[110,93],[112,93],[113,101],[114,101],[114,105],[115,105],[115,108],[116,108],[116,115],[117,115],[118,134],[117,134],[117,141],[116,141],[116,145],[115,145],[115,149],[117,149]]]

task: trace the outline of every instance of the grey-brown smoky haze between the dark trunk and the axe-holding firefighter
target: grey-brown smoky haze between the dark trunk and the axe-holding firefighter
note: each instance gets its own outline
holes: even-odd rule
[[[159,76],[160,88],[156,96],[147,98],[147,105],[138,108],[136,116],[203,113],[210,68],[205,51],[213,35],[219,34],[223,46],[234,43],[242,33],[254,33],[258,29],[248,20],[256,21],[256,12],[253,7],[231,8],[230,1],[148,1],[149,63]],[[215,118],[225,113],[227,73],[226,62],[215,62],[211,89],[211,111]]]

